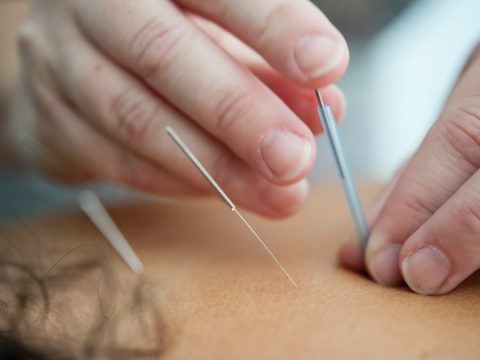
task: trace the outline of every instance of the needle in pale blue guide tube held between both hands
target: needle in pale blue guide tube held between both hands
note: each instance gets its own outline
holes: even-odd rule
[[[337,166],[338,175],[342,183],[345,197],[347,198],[350,214],[355,226],[355,232],[360,242],[360,248],[364,252],[367,246],[370,230],[365,218],[365,212],[363,211],[360,196],[358,195],[355,182],[353,180],[350,167],[348,166],[347,159],[343,153],[340,137],[338,136],[337,126],[335,118],[332,113],[332,109],[329,104],[325,104],[320,95],[318,89],[315,90],[315,95],[318,100],[318,114],[323,125],[325,134],[327,135],[328,142],[333,152],[335,164]]]

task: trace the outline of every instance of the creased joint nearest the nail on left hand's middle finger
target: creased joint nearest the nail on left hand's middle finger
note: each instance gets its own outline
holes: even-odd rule
[[[231,130],[235,123],[246,116],[252,105],[252,98],[246,91],[226,91],[214,109],[217,134]]]

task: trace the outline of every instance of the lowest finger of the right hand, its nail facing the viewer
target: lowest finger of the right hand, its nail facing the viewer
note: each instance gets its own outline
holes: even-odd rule
[[[445,294],[480,268],[480,171],[403,245],[402,274],[425,295]]]

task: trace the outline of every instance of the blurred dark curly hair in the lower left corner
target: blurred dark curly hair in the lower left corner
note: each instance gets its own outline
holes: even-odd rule
[[[84,244],[59,252],[9,235],[9,242],[0,239],[0,359],[148,359],[164,352],[152,285],[123,273],[120,283],[109,250]],[[53,265],[52,252],[61,254]],[[91,321],[72,306],[83,306]]]

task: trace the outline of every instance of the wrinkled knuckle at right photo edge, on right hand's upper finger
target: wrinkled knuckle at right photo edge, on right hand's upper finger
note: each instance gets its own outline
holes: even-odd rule
[[[445,138],[453,150],[475,168],[480,167],[480,111],[455,108],[448,112]]]

